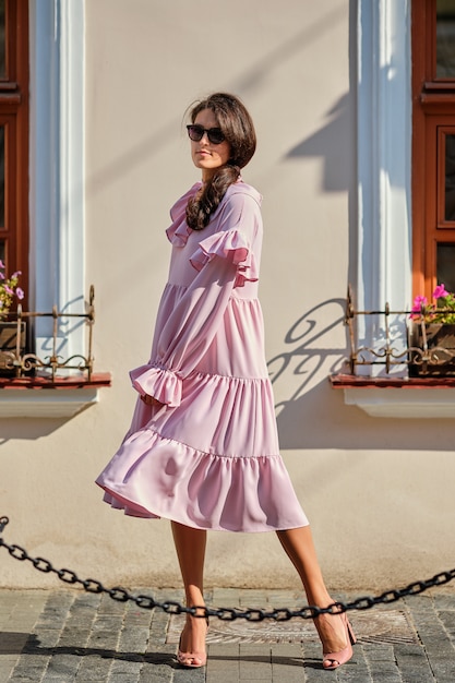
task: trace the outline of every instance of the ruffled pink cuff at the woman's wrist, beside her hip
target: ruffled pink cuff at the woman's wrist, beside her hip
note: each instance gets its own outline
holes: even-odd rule
[[[153,396],[170,408],[180,406],[182,383],[176,372],[155,363],[131,370],[130,378],[141,396]]]

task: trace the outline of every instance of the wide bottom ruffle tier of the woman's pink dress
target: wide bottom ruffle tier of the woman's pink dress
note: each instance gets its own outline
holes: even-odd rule
[[[151,429],[127,439],[96,483],[106,503],[134,517],[240,532],[309,524],[279,454],[219,456]]]

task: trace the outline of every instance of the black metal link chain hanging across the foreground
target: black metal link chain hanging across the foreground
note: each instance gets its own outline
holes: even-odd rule
[[[2,534],[7,524],[9,524],[8,517],[0,517],[0,534]],[[14,560],[19,560],[20,562],[24,562],[27,560],[32,562],[35,570],[38,572],[44,572],[45,574],[57,574],[60,580],[64,584],[70,585],[80,585],[84,588],[86,592],[95,592],[95,594],[106,594],[112,600],[117,600],[118,602],[128,602],[131,600],[137,607],[143,608],[145,610],[153,610],[155,608],[164,610],[167,614],[183,614],[189,613],[192,616],[197,616],[205,619],[207,616],[216,616],[221,621],[235,621],[236,619],[246,619],[247,621],[259,622],[264,621],[265,619],[272,619],[275,621],[289,621],[290,619],[299,618],[299,619],[314,619],[320,614],[339,614],[342,612],[347,612],[348,610],[369,610],[376,604],[390,604],[391,602],[396,602],[397,600],[402,600],[402,598],[407,598],[409,596],[417,596],[429,588],[434,588],[436,586],[443,586],[444,584],[448,584],[451,580],[455,578],[455,568],[450,570],[448,572],[441,572],[440,574],[435,574],[432,578],[428,580],[414,582],[409,584],[405,588],[392,588],[391,590],[386,590],[382,592],[380,596],[369,597],[364,596],[362,598],[357,598],[352,600],[352,602],[334,602],[328,607],[315,607],[315,606],[306,606],[300,610],[289,610],[288,608],[279,608],[271,611],[262,610],[262,609],[234,609],[234,608],[207,608],[207,607],[184,607],[177,601],[173,600],[165,600],[164,602],[158,602],[152,596],[134,596],[124,588],[120,586],[116,586],[115,588],[105,588],[103,584],[95,578],[86,578],[81,579],[72,570],[56,570],[48,560],[44,558],[32,558],[24,548],[15,544],[8,544],[4,542],[3,538],[0,536],[0,547],[8,550],[10,555],[14,558]]]

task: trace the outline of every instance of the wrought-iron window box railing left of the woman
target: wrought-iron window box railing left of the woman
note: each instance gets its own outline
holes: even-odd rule
[[[95,289],[92,285],[89,288],[88,302],[86,303],[85,313],[67,313],[59,312],[57,307],[52,308],[50,313],[39,313],[36,311],[25,312],[22,305],[17,307],[17,311],[2,314],[3,321],[13,321],[15,323],[14,342],[7,349],[0,348],[0,368],[7,374],[14,378],[23,378],[33,374],[39,374],[48,378],[51,382],[56,381],[57,373],[61,370],[79,370],[86,374],[89,381],[93,372],[93,325],[95,322]],[[24,323],[33,327],[34,322],[38,317],[52,319],[51,352],[44,358],[27,350],[23,346]],[[59,343],[59,324],[62,319],[80,319],[87,328],[87,355],[75,354],[69,358],[63,358],[58,352]]]

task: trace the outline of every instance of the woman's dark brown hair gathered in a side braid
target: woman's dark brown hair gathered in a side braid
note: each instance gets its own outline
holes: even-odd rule
[[[208,225],[226,190],[238,180],[240,169],[247,166],[256,148],[253,121],[238,97],[227,93],[214,93],[193,106],[190,112],[192,123],[204,109],[213,111],[229,143],[230,158],[225,166],[215,171],[202,192],[188,202],[187,223],[193,230],[202,230]]]

